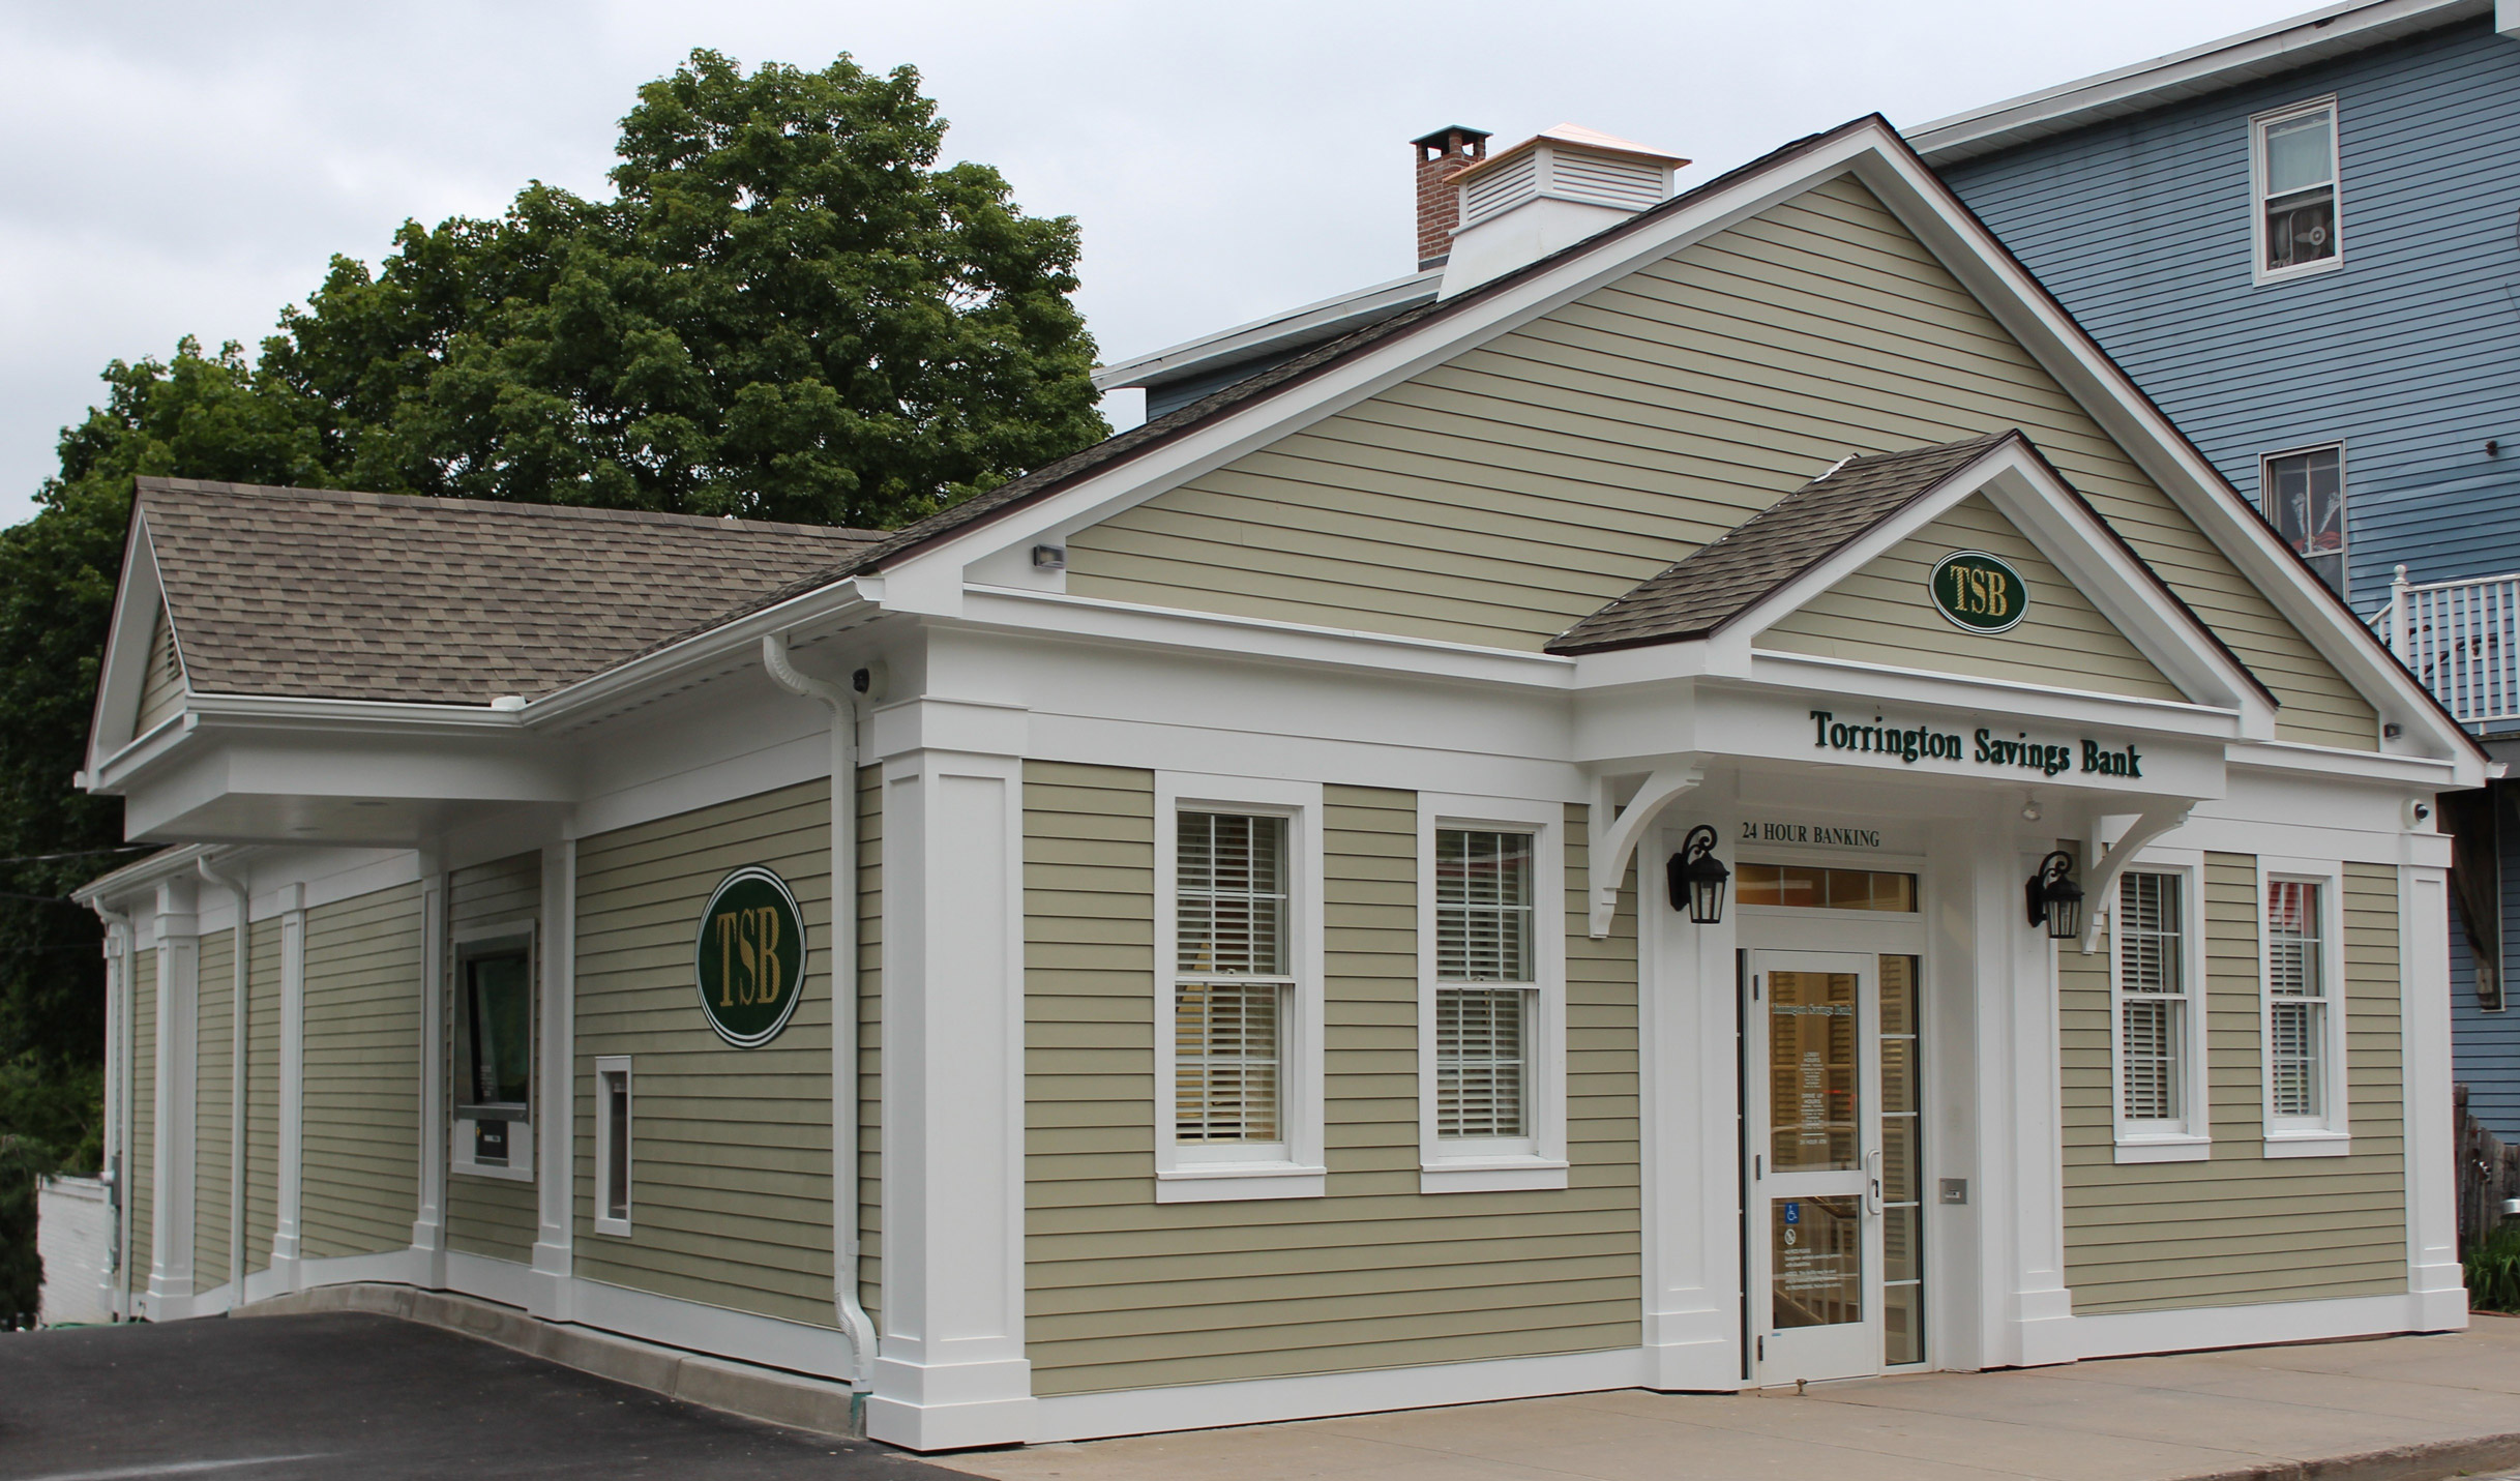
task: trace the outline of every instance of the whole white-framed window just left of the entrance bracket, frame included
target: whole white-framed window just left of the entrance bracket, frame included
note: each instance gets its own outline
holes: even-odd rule
[[[1419,806],[1419,1186],[1565,1186],[1562,819],[1499,798]]]

